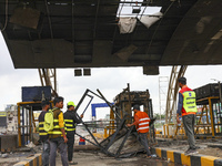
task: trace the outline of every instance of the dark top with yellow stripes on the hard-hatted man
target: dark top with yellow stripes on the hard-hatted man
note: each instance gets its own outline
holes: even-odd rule
[[[67,127],[67,133],[75,133],[77,124],[81,123],[81,118],[78,117],[75,111],[67,111],[64,113],[64,123]]]

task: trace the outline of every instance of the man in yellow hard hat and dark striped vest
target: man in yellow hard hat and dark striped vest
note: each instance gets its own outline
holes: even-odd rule
[[[77,162],[72,160],[73,157],[73,145],[74,145],[74,134],[75,134],[75,126],[77,124],[81,123],[82,121],[77,115],[74,110],[75,105],[73,102],[67,103],[67,112],[64,113],[64,123],[67,127],[67,145],[68,145],[68,162],[70,165],[77,165]],[[80,116],[81,118],[83,115]]]

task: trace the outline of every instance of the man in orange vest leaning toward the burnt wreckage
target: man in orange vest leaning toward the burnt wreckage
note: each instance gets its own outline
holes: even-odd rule
[[[140,105],[134,105],[133,106],[134,111],[134,123],[132,124],[127,124],[128,127],[131,127],[135,125],[135,128],[139,133],[139,138],[140,143],[143,145],[145,152],[147,152],[147,157],[151,158],[151,153],[150,148],[148,145],[148,132],[149,132],[149,123],[150,123],[150,117],[145,112],[140,111]]]

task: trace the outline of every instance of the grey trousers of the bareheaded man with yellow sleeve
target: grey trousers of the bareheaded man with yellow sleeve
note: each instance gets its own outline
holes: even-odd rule
[[[69,166],[67,157],[67,144],[63,137],[50,139],[50,166],[56,166],[57,148],[61,154],[62,166]]]

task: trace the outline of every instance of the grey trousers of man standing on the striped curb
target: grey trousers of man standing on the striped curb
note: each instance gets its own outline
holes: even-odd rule
[[[194,138],[194,121],[195,115],[189,114],[185,116],[182,116],[183,120],[183,126],[185,129],[185,135],[188,136],[188,143],[190,145],[191,149],[195,149],[195,138]]]

